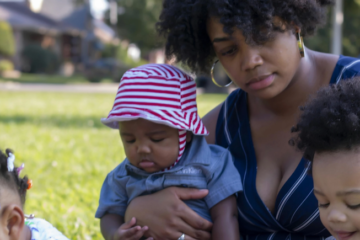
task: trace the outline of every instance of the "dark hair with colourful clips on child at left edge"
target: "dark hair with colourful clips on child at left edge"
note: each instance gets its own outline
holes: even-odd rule
[[[28,188],[28,178],[26,176],[20,178],[16,167],[13,171],[8,171],[7,159],[10,153],[12,153],[10,149],[6,149],[6,154],[0,150],[0,188],[7,187],[8,189],[14,190],[19,194],[21,204],[24,206]]]

